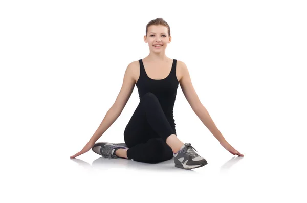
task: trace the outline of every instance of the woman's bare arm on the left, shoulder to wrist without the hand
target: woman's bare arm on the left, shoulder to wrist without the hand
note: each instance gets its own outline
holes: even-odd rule
[[[125,71],[123,84],[114,104],[106,112],[104,119],[102,120],[96,132],[93,134],[90,142],[95,143],[121,115],[121,112],[123,111],[133,92],[134,86],[135,80],[133,78],[133,64],[130,63]]]

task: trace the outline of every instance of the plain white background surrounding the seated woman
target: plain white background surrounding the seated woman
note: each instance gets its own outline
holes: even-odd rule
[[[306,202],[304,1],[1,1],[1,202]],[[127,65],[149,54],[162,17],[166,55],[186,63],[226,151],[179,86],[178,137],[208,165],[71,160],[113,105]],[[99,141],[123,142],[139,102]]]

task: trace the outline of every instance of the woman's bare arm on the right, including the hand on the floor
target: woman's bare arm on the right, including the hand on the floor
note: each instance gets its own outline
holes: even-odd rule
[[[209,115],[209,112],[204,107],[202,102],[200,101],[198,95],[195,92],[195,89],[192,85],[191,77],[188,71],[186,64],[182,61],[177,60],[177,67],[179,68],[180,72],[180,86],[184,96],[186,97],[187,101],[189,102],[190,106],[192,107],[195,114],[200,118],[203,124],[210,130],[213,136],[220,142],[220,144],[227,149],[233,155],[237,154],[239,156],[244,156],[243,154],[239,153],[235,150],[224,138],[220,130],[217,129],[216,125],[214,124],[212,118]]]

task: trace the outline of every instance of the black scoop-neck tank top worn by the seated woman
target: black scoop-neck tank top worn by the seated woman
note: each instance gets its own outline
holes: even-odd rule
[[[136,83],[136,86],[138,88],[140,100],[148,92],[151,92],[154,95],[156,95],[167,120],[169,121],[171,127],[173,128],[176,134],[176,128],[175,128],[176,124],[173,118],[173,107],[179,84],[179,81],[177,80],[176,77],[177,60],[173,59],[171,71],[169,75],[164,79],[149,78],[149,76],[146,74],[142,59],[140,59],[139,62],[140,62],[140,77]]]

